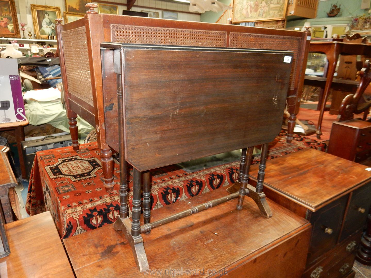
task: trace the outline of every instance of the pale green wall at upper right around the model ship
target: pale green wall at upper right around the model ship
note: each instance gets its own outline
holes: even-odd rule
[[[341,12],[336,17],[327,17],[327,14],[332,4],[338,3],[341,7]],[[368,13],[368,9],[361,9],[362,0],[329,0],[318,3],[317,17],[315,19],[300,19],[290,20],[286,24],[286,28],[303,26],[306,21],[311,22],[312,25],[321,24],[348,24],[352,18],[364,13]]]

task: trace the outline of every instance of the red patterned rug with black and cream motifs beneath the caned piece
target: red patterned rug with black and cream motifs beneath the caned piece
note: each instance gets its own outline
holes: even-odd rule
[[[324,150],[325,144],[295,135],[286,143],[282,131],[270,143],[273,159],[305,148]],[[86,143],[75,152],[72,147],[37,152],[31,171],[26,210],[30,215],[49,210],[62,238],[78,235],[115,221],[119,214],[118,154],[114,155],[114,190],[107,193],[103,186],[100,150],[96,142]],[[254,157],[253,163],[259,162]],[[151,171],[151,208],[229,186],[237,178],[239,161],[188,173],[177,165]],[[131,215],[132,168],[129,177],[129,215]],[[269,169],[266,172],[269,175]]]

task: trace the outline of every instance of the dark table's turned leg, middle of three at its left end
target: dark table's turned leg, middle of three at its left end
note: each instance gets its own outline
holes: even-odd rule
[[[141,191],[141,178],[142,173],[137,169],[133,169],[133,199],[132,199],[132,209],[131,209],[131,235],[138,236],[140,234],[140,211],[142,199],[140,196]]]

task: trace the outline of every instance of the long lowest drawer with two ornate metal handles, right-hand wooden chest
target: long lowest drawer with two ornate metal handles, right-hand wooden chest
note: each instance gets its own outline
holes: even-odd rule
[[[325,255],[319,258],[316,264],[306,269],[303,278],[331,277],[327,276],[329,271],[332,273],[335,272],[335,266],[338,267],[341,262],[342,264],[345,264],[345,262],[343,262],[344,259],[346,259],[346,262],[349,260],[354,261],[359,242],[361,241],[361,234],[362,231],[358,231],[356,234],[345,239],[342,244],[338,244],[334,249],[328,251]],[[341,268],[341,266],[339,268]]]

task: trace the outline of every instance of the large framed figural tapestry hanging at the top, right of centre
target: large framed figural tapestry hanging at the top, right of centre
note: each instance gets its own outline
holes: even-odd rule
[[[234,0],[232,23],[284,20],[287,0]]]

